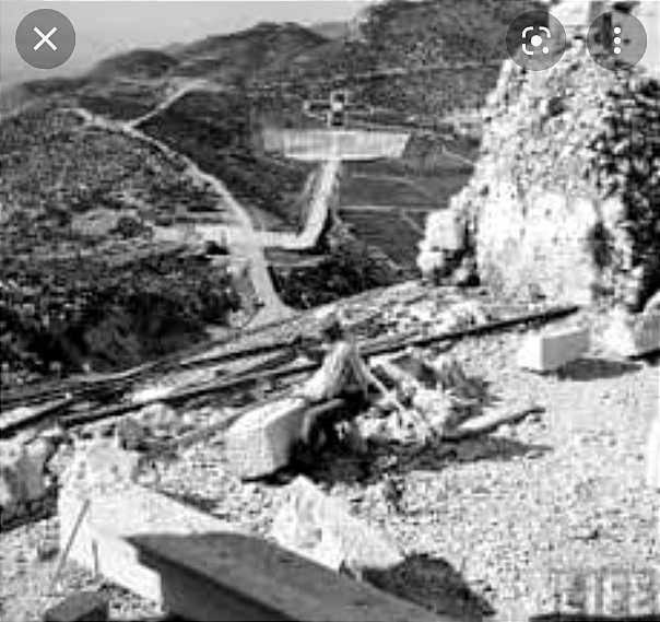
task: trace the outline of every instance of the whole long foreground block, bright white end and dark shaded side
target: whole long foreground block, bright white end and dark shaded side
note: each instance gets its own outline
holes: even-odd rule
[[[60,500],[61,537],[83,500]],[[188,620],[456,622],[139,485],[91,500],[70,556]]]

